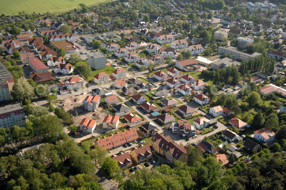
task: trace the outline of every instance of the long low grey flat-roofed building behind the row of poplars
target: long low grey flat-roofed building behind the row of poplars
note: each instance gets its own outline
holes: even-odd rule
[[[233,46],[228,46],[228,47],[222,47],[220,46],[217,49],[217,53],[220,55],[223,54],[230,54],[231,56],[233,56],[233,59],[237,59],[237,60],[250,60],[250,59],[254,59],[256,56],[260,56],[260,53],[254,52],[253,54],[247,54],[244,52],[240,52],[236,50],[236,47]]]

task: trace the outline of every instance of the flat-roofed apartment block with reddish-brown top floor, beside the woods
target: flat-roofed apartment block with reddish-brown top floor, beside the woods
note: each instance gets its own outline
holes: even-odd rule
[[[26,124],[25,110],[21,102],[0,107],[0,127],[12,128]]]

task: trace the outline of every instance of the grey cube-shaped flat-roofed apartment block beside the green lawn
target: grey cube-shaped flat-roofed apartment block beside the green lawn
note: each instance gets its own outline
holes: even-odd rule
[[[88,65],[95,70],[104,69],[106,68],[106,56],[101,52],[88,54]]]

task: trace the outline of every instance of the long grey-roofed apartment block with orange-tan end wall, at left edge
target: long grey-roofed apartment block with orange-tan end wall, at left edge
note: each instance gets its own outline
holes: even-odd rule
[[[14,85],[14,78],[0,62],[0,101],[11,100],[10,91]]]

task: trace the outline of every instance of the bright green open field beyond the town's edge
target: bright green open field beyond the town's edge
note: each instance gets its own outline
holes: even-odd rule
[[[18,15],[19,11],[25,11],[25,13],[61,13],[65,11],[78,8],[78,4],[84,3],[86,6],[91,6],[101,3],[101,1],[107,2],[109,0],[11,0],[1,1],[0,13],[5,15]]]

